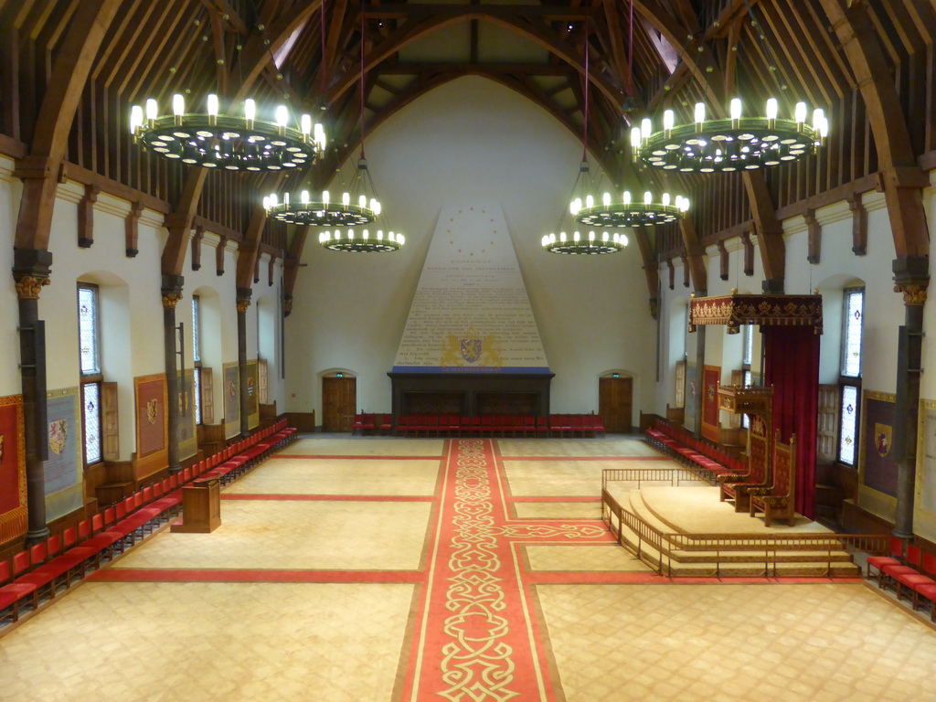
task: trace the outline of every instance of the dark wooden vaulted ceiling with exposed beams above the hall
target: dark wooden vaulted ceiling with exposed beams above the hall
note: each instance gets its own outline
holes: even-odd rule
[[[54,88],[52,68],[87,1],[0,0],[7,153],[21,144],[32,154],[46,139],[37,134],[44,128],[38,118]],[[781,110],[798,100],[826,109],[829,146],[807,163],[753,182],[667,176],[669,188],[696,203],[692,227],[641,241],[648,258],[691,256],[699,243],[754,225],[775,231],[778,216],[806,207],[797,203],[847,195],[843,189],[878,171],[883,127],[872,128],[874,110],[846,46],[858,31],[854,6],[880,46],[871,70],[890,76],[897,101],[891,109],[904,122],[909,148],[924,160],[934,151],[936,0],[325,0],[324,17],[322,0],[111,4],[97,20],[104,36],[69,123],[66,161],[75,172],[92,171],[166,203],[167,212],[187,211],[188,223],[197,215],[229,232],[256,222],[258,194],[275,182],[211,173],[193,186],[183,168],[130,144],[129,106],[150,96],[167,104],[175,92],[203,104],[216,92],[223,101],[252,95],[259,103],[285,100],[297,112],[322,109],[330,146],[314,167],[321,184],[358,148],[362,49],[369,130],[419,95],[471,74],[526,96],[582,138],[587,46],[589,147],[619,185],[661,184],[660,174],[636,168],[629,154],[629,126],[644,116],[658,120],[672,108],[688,117],[699,100],[724,110],[735,95],[753,105],[776,96]],[[263,238],[285,248],[285,232],[275,226],[267,225]]]

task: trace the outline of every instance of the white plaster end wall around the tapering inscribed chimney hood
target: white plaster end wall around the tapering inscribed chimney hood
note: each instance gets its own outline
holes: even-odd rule
[[[286,319],[286,408],[321,412],[319,373],[358,376],[358,409],[388,411],[393,365],[410,302],[444,203],[499,201],[539,327],[554,412],[598,409],[598,376],[635,376],[635,419],[655,389],[656,326],[640,254],[551,256],[540,239],[566,207],[580,142],[505,87],[447,83],[369,137],[367,155],[385,212],[406,247],[348,256],[310,235],[293,314]],[[292,395],[295,394],[295,397]]]

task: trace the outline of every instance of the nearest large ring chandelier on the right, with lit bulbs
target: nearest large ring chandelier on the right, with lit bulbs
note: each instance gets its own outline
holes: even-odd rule
[[[779,119],[777,100],[767,101],[765,116],[743,117],[738,97],[731,101],[730,118],[706,119],[705,103],[696,103],[695,120],[675,124],[673,110],[663,113],[663,129],[652,131],[644,119],[631,130],[631,148],[655,168],[683,173],[726,173],[779,166],[795,161],[823,145],[828,121],[821,109],[806,122],[805,102],[798,102],[793,119]]]

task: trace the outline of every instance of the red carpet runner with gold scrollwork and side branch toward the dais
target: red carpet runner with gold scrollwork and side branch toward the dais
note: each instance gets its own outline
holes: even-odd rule
[[[485,439],[448,444],[442,504],[403,699],[556,699],[519,543],[607,543],[594,520],[508,519]]]

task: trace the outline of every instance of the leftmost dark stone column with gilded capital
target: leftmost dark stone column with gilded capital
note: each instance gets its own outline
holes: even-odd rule
[[[26,546],[49,536],[46,526],[46,364],[45,338],[40,331],[39,291],[49,285],[52,255],[37,249],[13,253],[13,280],[19,298],[20,374],[22,378],[23,441],[26,455]]]

